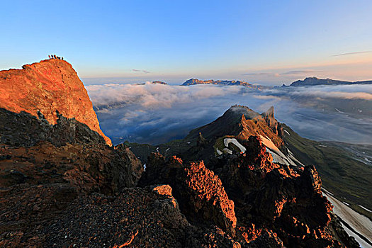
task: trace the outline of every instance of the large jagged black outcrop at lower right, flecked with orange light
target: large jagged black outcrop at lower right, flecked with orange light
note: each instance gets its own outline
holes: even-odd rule
[[[210,164],[235,202],[237,222],[268,228],[286,247],[358,247],[332,221],[332,205],[322,196],[315,167],[273,163],[258,137],[243,144],[244,154]]]

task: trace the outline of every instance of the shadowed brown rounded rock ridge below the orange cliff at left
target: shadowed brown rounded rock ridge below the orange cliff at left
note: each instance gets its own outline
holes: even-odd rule
[[[45,245],[43,227],[62,218],[91,193],[117,195],[133,187],[143,171],[128,147],[39,142],[33,147],[0,145],[0,244]],[[76,205],[75,205],[76,206]],[[81,221],[81,220],[77,220]],[[36,236],[35,236],[36,235]],[[13,240],[13,241],[11,241]],[[1,245],[0,245],[1,246]]]

